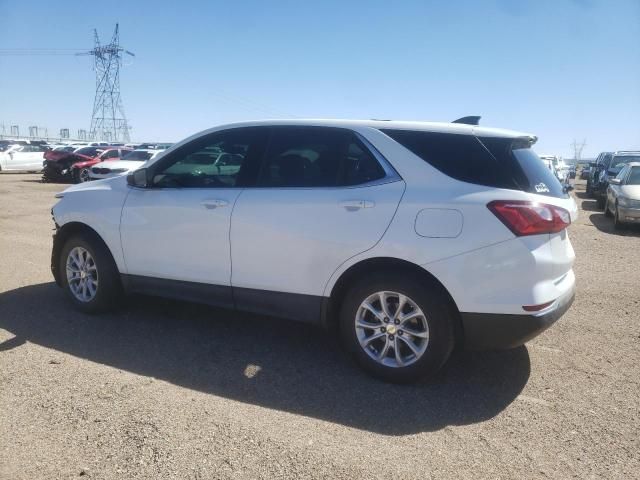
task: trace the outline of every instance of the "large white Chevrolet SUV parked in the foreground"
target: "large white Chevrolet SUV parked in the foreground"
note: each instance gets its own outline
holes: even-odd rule
[[[412,381],[458,342],[511,348],[574,297],[574,200],[536,137],[457,123],[265,121],[68,188],[51,268],[86,312],[123,292],[310,322]]]

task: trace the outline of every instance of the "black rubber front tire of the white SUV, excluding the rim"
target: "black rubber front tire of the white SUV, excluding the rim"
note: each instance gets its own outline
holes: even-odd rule
[[[98,286],[94,297],[89,301],[81,301],[71,291],[67,280],[67,258],[71,250],[81,247],[89,252],[97,268],[96,278]],[[122,284],[120,273],[116,267],[111,252],[102,239],[91,232],[74,234],[67,239],[60,250],[58,268],[62,287],[75,307],[85,313],[99,313],[117,308],[122,300]]]

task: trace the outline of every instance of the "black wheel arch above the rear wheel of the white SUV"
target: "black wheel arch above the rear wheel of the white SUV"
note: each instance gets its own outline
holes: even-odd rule
[[[462,319],[458,306],[447,288],[431,272],[425,268],[394,257],[375,257],[361,260],[345,270],[331,288],[331,293],[322,305],[322,325],[325,328],[337,328],[338,311],[349,287],[360,278],[377,272],[400,272],[411,275],[424,282],[427,288],[440,291],[447,299],[453,318],[456,341],[462,340]]]

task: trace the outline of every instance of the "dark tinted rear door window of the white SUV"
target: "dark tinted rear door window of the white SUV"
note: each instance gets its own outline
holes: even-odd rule
[[[276,127],[260,172],[263,187],[335,187],[383,178],[384,170],[349,130]]]

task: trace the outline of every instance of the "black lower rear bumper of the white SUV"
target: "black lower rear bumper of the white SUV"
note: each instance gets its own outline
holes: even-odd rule
[[[539,315],[461,313],[465,348],[498,350],[515,348],[540,335],[569,310],[575,289],[560,297],[551,310]]]

